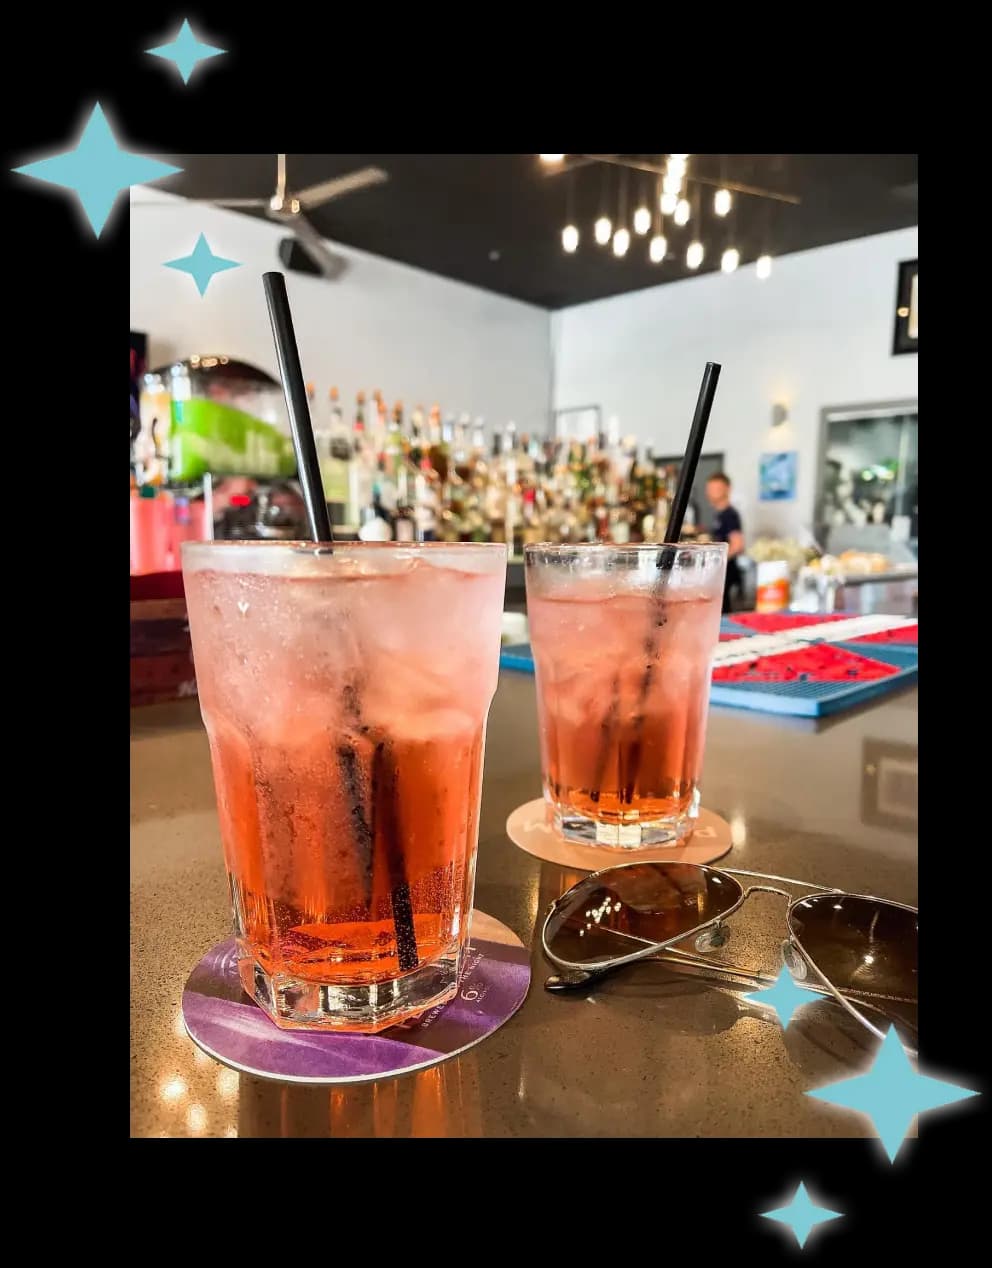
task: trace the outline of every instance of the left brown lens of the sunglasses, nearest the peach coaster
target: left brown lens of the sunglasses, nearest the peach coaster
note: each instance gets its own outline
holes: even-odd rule
[[[548,917],[544,945],[558,960],[617,960],[677,938],[729,912],[743,890],[695,864],[629,864],[573,885]]]

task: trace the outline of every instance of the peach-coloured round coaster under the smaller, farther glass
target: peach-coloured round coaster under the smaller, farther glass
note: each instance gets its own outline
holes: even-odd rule
[[[554,831],[543,798],[519,805],[506,820],[506,836],[537,858],[578,871],[599,871],[613,864],[712,864],[729,853],[731,825],[712,810],[702,809],[693,836],[679,846],[618,850],[566,841]]]

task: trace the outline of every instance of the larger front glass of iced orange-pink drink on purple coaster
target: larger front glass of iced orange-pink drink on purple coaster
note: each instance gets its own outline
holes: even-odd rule
[[[488,544],[184,545],[241,981],[278,1026],[454,994],[505,573]]]

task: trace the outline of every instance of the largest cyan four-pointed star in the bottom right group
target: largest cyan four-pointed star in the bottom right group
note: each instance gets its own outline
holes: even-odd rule
[[[978,1096],[970,1088],[959,1088],[944,1079],[918,1074],[910,1064],[894,1027],[889,1027],[885,1033],[866,1074],[828,1083],[827,1088],[831,1090],[817,1088],[807,1092],[807,1096],[868,1115],[882,1137],[889,1161],[896,1160],[906,1132],[918,1113]]]

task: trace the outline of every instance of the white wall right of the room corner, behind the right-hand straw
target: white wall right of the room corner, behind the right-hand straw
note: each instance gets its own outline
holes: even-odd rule
[[[898,230],[566,308],[552,317],[554,407],[599,404],[624,434],[681,453],[708,360],[723,365],[705,449],[722,451],[751,538],[812,522],[819,411],[916,399],[916,354],[892,356],[897,270],[918,252]],[[771,435],[771,407],[789,424]],[[757,501],[759,455],[798,450],[794,502]]]

